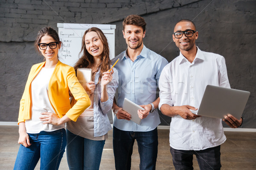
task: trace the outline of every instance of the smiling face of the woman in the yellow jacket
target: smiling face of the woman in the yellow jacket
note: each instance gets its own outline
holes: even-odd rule
[[[51,36],[49,35],[44,35],[41,38],[41,41],[39,43],[50,43],[50,42],[56,42],[56,40],[54,40]],[[41,50],[39,47],[39,51],[42,53],[42,55],[45,57],[46,60],[49,61],[57,61],[58,60],[58,50],[60,49],[60,44],[57,45],[57,48],[51,49],[49,47],[49,45],[47,46],[47,48],[45,50]]]

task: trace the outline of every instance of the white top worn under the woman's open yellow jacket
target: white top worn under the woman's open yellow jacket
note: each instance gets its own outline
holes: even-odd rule
[[[43,116],[41,115],[43,112],[55,113],[48,96],[48,85],[53,71],[54,68],[43,67],[31,83],[32,117],[25,121],[27,133],[40,133],[43,130],[51,132],[65,128],[65,124],[59,126],[43,124],[39,119],[40,116]]]

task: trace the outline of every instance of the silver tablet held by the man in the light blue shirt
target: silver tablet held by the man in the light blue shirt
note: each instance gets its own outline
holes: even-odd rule
[[[138,125],[140,125],[141,119],[140,119],[140,117],[138,115],[138,110],[145,111],[144,108],[142,108],[139,105],[135,104],[131,100],[128,100],[128,99],[125,98],[122,110],[126,111],[127,113],[129,113],[131,115],[131,121],[133,121],[133,122],[137,123]]]

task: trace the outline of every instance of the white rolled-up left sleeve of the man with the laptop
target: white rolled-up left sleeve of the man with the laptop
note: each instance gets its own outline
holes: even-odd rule
[[[172,89],[171,89],[171,83],[172,83],[172,75],[170,74],[168,70],[169,65],[166,65],[165,68],[163,68],[163,71],[159,78],[159,109],[161,110],[161,106],[163,104],[168,104],[170,106],[173,106],[172,102]]]

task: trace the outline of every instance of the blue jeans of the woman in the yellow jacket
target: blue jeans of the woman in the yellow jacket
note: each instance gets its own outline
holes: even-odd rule
[[[34,170],[40,158],[40,170],[58,170],[67,144],[65,129],[28,135],[31,145],[20,144],[14,170]]]

